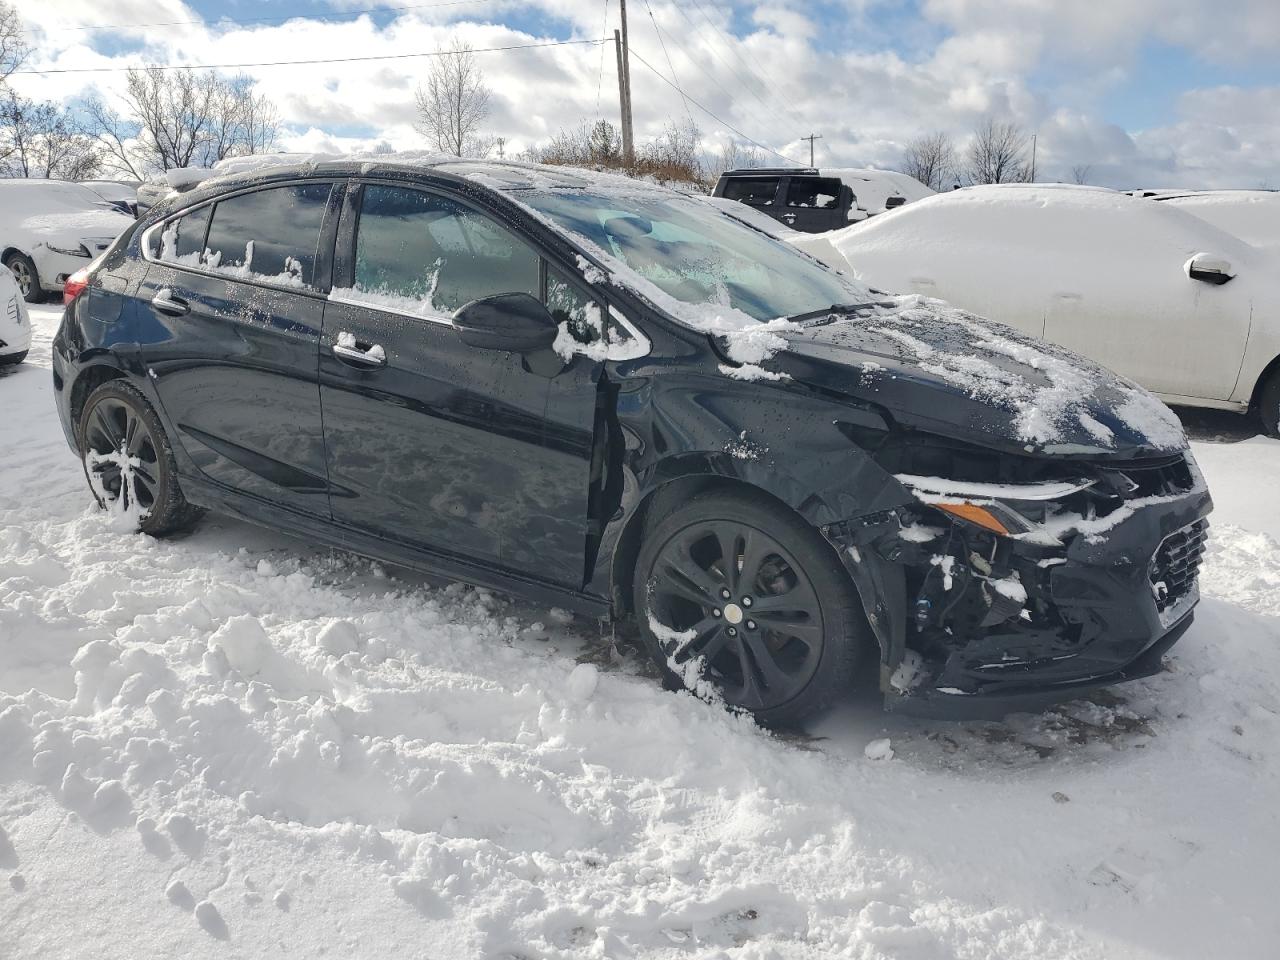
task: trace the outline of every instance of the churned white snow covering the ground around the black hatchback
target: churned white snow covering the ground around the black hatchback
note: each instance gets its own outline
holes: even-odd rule
[[[1276,956],[1280,443],[1197,445],[1207,599],[1167,672],[1006,723],[863,692],[782,737],[556,611],[219,517],[115,532],[32,315],[0,956]]]

